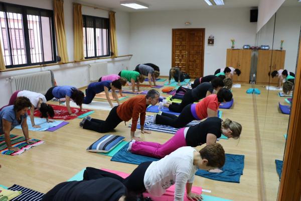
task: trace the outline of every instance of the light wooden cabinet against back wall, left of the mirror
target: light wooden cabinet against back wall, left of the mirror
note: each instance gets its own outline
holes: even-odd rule
[[[251,70],[252,50],[227,49],[226,66],[238,68],[241,71],[240,76],[234,75],[233,81],[240,83],[249,83]]]

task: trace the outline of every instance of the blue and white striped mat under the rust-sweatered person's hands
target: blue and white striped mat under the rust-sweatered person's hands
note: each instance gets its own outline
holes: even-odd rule
[[[153,120],[153,116],[145,117],[144,129],[149,130],[149,131],[158,131],[158,132],[170,133],[170,134],[175,134],[179,130],[179,129],[171,127],[171,126],[154,124],[154,123],[152,123],[152,120]],[[200,123],[199,121],[194,120],[194,121],[190,122],[189,124],[187,124],[186,127],[194,126],[199,123]],[[131,127],[131,124],[128,127]],[[140,119],[138,119],[137,129],[140,129]]]

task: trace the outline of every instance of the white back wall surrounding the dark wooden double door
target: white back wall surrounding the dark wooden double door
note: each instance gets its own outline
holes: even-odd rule
[[[185,22],[191,22],[185,26]],[[254,45],[256,23],[250,23],[250,9],[143,12],[130,14],[130,69],[139,63],[155,63],[168,75],[172,63],[172,29],[205,28],[204,75],[226,65],[226,49]],[[214,46],[207,40],[213,35]]]

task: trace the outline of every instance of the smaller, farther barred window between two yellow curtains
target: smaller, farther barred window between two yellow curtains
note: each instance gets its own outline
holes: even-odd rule
[[[85,58],[110,56],[109,19],[83,15]]]

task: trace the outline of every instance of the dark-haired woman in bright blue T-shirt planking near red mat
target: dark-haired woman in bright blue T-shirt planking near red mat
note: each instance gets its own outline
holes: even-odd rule
[[[82,104],[84,101],[84,93],[73,86],[53,86],[45,94],[46,100],[51,100],[52,98],[66,98],[66,107],[69,115],[76,116],[76,114],[72,114],[70,107],[70,98],[76,103],[77,106],[80,107],[82,111]]]

